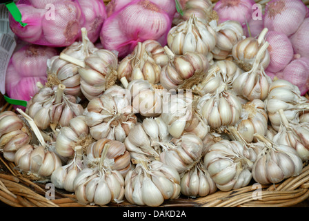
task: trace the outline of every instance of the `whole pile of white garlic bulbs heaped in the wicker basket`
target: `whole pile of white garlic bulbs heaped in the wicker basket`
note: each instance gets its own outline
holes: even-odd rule
[[[309,159],[308,99],[266,75],[267,29],[246,38],[237,21],[216,22],[191,15],[167,46],[148,39],[123,59],[86,40],[75,43],[81,57],[68,46],[48,64],[72,64],[81,90],[46,85],[26,113],[0,115],[3,154],[100,206],[159,206],[298,175]]]

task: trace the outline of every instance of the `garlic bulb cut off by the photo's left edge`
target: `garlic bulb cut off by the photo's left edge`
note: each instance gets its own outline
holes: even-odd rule
[[[32,137],[18,115],[12,111],[0,113],[0,150],[3,157],[14,162],[16,151],[29,144]]]

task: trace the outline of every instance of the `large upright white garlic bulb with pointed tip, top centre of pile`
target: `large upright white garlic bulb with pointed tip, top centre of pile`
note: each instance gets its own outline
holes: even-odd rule
[[[206,21],[191,17],[174,26],[168,32],[168,48],[175,55],[199,52],[207,55],[217,44],[217,35]]]

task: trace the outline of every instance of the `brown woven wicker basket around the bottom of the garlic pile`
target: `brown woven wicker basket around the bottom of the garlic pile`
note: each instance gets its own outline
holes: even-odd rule
[[[103,0],[108,3],[110,0]],[[212,0],[217,2],[218,0]],[[265,6],[270,0],[256,0]],[[309,6],[309,0],[303,0]],[[306,97],[309,97],[306,95]],[[0,113],[14,111],[0,95]],[[77,202],[74,194],[55,190],[54,200],[48,200],[46,183],[36,183],[24,177],[14,169],[13,162],[8,162],[0,154],[0,201],[13,207],[99,207],[83,205]],[[309,165],[304,164],[301,174],[290,177],[279,184],[260,185],[254,183],[238,190],[217,191],[203,198],[168,200],[160,207],[288,207],[297,206],[309,197]],[[124,200],[121,204],[107,204],[108,207],[135,207]]]

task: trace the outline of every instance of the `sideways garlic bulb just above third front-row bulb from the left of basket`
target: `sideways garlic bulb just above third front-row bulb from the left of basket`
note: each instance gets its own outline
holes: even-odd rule
[[[162,152],[160,161],[174,167],[179,174],[192,169],[203,153],[203,142],[193,133],[185,133],[179,139],[175,137],[169,143],[160,143]]]

